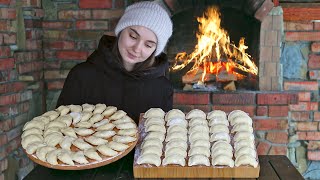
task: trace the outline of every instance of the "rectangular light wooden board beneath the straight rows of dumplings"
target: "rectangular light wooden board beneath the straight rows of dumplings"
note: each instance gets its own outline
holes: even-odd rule
[[[140,116],[138,133],[139,139],[136,145],[133,173],[135,178],[257,178],[259,177],[260,164],[254,168],[252,166],[153,166],[153,165],[139,165],[137,164],[138,157],[140,156],[140,146],[145,136],[144,121],[145,119]],[[163,159],[163,157],[161,157]],[[211,161],[211,160],[210,160]],[[188,164],[188,158],[186,159]]]

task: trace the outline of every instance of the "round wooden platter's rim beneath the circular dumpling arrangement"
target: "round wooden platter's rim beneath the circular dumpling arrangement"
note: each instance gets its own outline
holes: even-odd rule
[[[35,163],[40,164],[42,166],[48,167],[48,168],[52,168],[52,169],[60,169],[60,170],[83,170],[83,169],[92,169],[92,168],[97,168],[100,166],[104,166],[107,164],[110,164],[112,162],[115,162],[119,159],[121,159],[122,157],[124,157],[125,155],[127,155],[137,144],[138,139],[139,139],[139,133],[136,134],[137,140],[131,143],[128,143],[127,145],[129,146],[128,149],[126,149],[125,151],[119,152],[119,154],[117,156],[104,156],[101,153],[98,152],[98,154],[101,156],[102,160],[101,161],[96,161],[96,160],[92,160],[87,158],[87,160],[89,161],[88,164],[79,164],[75,162],[74,166],[71,165],[67,165],[67,164],[62,164],[61,161],[58,160],[59,165],[52,165],[48,162],[44,162],[41,161],[40,159],[37,158],[37,156],[35,154],[28,154],[25,149],[23,149],[25,151],[25,153],[28,155],[28,157]],[[74,147],[73,145],[71,146],[71,150],[72,151],[77,151],[78,149],[76,147]]]

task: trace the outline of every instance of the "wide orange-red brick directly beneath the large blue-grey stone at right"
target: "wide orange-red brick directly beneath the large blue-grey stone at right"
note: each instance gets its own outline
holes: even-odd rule
[[[284,90],[286,91],[317,91],[317,81],[295,81],[295,82],[284,82]]]

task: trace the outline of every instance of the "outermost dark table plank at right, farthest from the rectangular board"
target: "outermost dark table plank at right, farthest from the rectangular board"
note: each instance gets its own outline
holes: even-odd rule
[[[280,179],[304,179],[286,156],[269,156],[269,159],[270,164],[272,165]]]

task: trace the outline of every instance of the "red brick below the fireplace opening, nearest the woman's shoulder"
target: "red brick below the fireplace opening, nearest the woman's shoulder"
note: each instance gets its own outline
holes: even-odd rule
[[[210,93],[174,93],[173,103],[183,105],[210,104]]]

